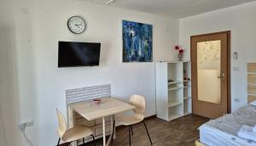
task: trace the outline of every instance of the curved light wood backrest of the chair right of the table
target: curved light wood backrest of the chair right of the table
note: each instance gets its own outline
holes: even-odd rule
[[[144,116],[146,101],[142,95],[132,95],[130,98],[130,104],[136,107],[133,110],[135,114]]]

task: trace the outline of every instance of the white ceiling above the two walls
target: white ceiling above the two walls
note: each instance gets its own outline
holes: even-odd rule
[[[84,1],[102,5],[106,5],[108,2],[108,0]],[[183,18],[252,1],[255,0],[114,0],[108,6]]]

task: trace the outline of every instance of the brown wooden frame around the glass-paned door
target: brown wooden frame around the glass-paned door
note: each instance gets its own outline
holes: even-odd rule
[[[202,35],[195,35],[195,36],[190,36],[190,59],[192,59],[192,38],[198,37],[198,36],[212,36],[212,35],[218,35],[218,34],[227,34],[228,38],[227,38],[227,59],[228,59],[228,63],[227,63],[227,84],[228,84],[228,91],[227,91],[227,111],[228,114],[231,113],[231,52],[230,52],[230,48],[231,48],[231,31],[219,31],[219,32],[213,32],[213,33],[207,33],[207,34],[202,34]],[[193,69],[193,62],[191,62],[191,69]],[[193,71],[193,70],[191,70]],[[192,72],[191,72],[192,73]],[[191,76],[191,81],[193,81],[193,76]],[[193,84],[192,84],[193,86]],[[191,92],[193,95],[193,89],[197,87],[191,87]],[[194,98],[194,97],[192,97]],[[193,105],[194,105],[194,100],[192,100],[192,109],[193,109]],[[192,110],[193,111],[193,110]]]

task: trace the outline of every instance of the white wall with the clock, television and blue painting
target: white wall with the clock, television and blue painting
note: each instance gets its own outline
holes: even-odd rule
[[[178,42],[178,20],[76,0],[3,1],[1,18],[10,27],[3,28],[9,36],[2,30],[0,35],[1,59],[5,56],[6,61],[0,66],[1,72],[10,68],[3,76],[9,78],[1,82],[1,87],[10,82],[5,88],[9,93],[1,94],[1,108],[7,118],[3,123],[8,130],[13,129],[7,134],[8,145],[28,145],[16,127],[18,122],[30,119],[34,126],[27,128],[27,135],[32,143],[54,145],[55,108],[66,112],[65,90],[70,88],[111,83],[113,96],[125,101],[134,93],[145,95],[146,115],[155,114],[154,63],[121,62],[121,20],[153,25],[156,61],[176,59],[172,46]],[[67,29],[68,18],[76,14],[88,24],[81,35]],[[102,42],[100,66],[58,69],[58,41]],[[11,134],[16,134],[15,138]]]

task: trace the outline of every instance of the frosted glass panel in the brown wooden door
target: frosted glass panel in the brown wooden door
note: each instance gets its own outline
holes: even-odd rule
[[[221,41],[197,42],[198,100],[221,103]]]

